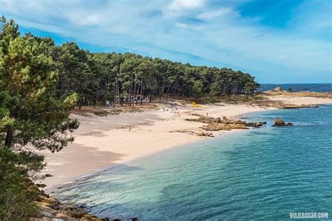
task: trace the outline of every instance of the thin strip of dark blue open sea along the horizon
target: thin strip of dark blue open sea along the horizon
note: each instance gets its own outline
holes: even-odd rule
[[[310,92],[332,92],[332,83],[317,83],[317,84],[261,84],[258,91],[273,90],[275,87],[280,87],[282,90],[289,90],[292,92],[310,91]]]

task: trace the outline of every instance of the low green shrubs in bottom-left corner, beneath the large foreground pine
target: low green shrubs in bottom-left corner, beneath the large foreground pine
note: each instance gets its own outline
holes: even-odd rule
[[[0,146],[0,220],[25,220],[36,215],[34,195],[27,188],[27,173],[43,168],[43,157],[32,153],[15,153]]]

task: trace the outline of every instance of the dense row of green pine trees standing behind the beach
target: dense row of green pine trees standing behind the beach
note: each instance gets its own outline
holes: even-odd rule
[[[76,43],[57,46],[51,38],[34,38],[48,45],[54,68],[59,71],[58,96],[76,92],[79,106],[106,100],[131,106],[142,99],[151,102],[165,95],[172,98],[250,95],[259,87],[253,76],[242,71],[193,66],[132,53],[91,53]]]

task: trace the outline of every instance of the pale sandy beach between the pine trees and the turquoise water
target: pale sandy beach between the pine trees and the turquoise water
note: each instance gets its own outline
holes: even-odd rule
[[[313,97],[271,97],[272,100],[286,104],[331,104],[332,99]],[[87,173],[114,164],[125,162],[154,152],[165,150],[184,143],[208,139],[191,133],[171,132],[176,130],[202,131],[203,123],[188,122],[184,119],[194,117],[192,113],[236,119],[246,113],[271,110],[244,104],[216,104],[193,108],[189,105],[178,106],[177,113],[163,111],[161,104],[158,110],[146,110],[136,113],[97,116],[71,115],[81,122],[74,132],[75,141],[56,153],[46,152],[46,173],[52,177],[43,180],[46,189],[61,185],[79,178]],[[129,130],[129,127],[131,129]],[[214,136],[228,134],[232,131],[213,131]]]

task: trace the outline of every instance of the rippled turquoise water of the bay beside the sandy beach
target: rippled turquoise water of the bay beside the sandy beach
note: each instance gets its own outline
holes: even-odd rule
[[[77,180],[54,195],[109,218],[289,220],[332,216],[332,106],[246,115],[267,121]],[[271,127],[275,117],[294,127]]]

